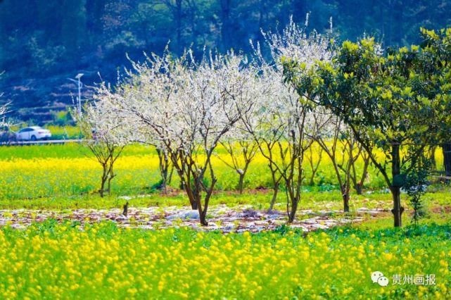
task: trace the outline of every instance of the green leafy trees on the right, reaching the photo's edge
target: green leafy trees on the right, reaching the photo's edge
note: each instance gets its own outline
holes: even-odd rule
[[[386,49],[374,39],[343,42],[331,62],[311,68],[286,58],[286,82],[308,101],[328,108],[350,127],[393,196],[394,225],[402,225],[401,189],[427,182],[425,153],[447,143],[451,124],[451,29],[421,30],[421,46]],[[371,151],[377,147],[383,156]],[[402,156],[402,149],[406,155]],[[388,168],[390,166],[390,168]],[[412,185],[412,182],[415,182]]]

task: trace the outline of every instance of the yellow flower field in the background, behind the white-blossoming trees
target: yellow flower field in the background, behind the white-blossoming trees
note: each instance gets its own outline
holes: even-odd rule
[[[223,149],[219,149],[217,155],[228,159]],[[216,189],[235,189],[238,182],[236,172],[217,156],[213,163],[218,177]],[[99,163],[79,144],[1,147],[0,169],[0,199],[89,194],[99,189],[100,185]],[[115,173],[117,177],[113,180],[114,194],[148,192],[150,187],[160,180],[158,156],[150,146],[128,146],[115,165]],[[306,163],[305,175],[308,178],[310,174],[311,170]],[[336,189],[333,168],[325,157],[322,158],[315,183],[317,187],[314,189]],[[256,156],[250,164],[244,184],[248,189],[271,187],[267,161],[261,155]],[[179,186],[175,173],[171,185]],[[367,187],[383,187],[382,178],[372,168]]]

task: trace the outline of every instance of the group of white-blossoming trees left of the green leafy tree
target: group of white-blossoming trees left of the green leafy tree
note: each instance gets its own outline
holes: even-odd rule
[[[200,61],[190,50],[180,58],[165,51],[163,56],[148,56],[145,63],[133,63],[127,79],[115,89],[103,83],[97,89],[96,102],[80,116],[84,131],[88,135],[95,132],[88,146],[96,145],[108,154],[107,159],[99,160],[106,174],[101,180],[101,195],[104,182],[113,179],[108,177],[115,161],[114,147],[110,146],[113,141],[120,141],[120,149],[127,142],[152,144],[162,162],[164,186],[171,168],[191,207],[198,210],[201,224],[207,225],[208,204],[217,184],[212,158],[217,146],[227,142],[233,168],[241,176],[240,189],[258,151],[269,165],[272,204],[283,187],[288,222],[293,222],[305,180],[304,154],[317,137],[326,135],[320,132],[334,124],[329,122],[329,111],[300,99],[284,83],[281,62],[284,56],[291,56],[311,66],[315,61],[329,61],[333,52],[328,37],[307,35],[292,20],[283,32],[265,32],[264,36],[270,58],[264,58],[260,44],[254,45],[251,57],[230,51],[224,55],[205,53]],[[243,144],[243,137],[247,144]],[[240,142],[239,146],[245,146],[239,149],[243,168],[239,168],[238,154],[231,147]],[[247,156],[248,151],[254,153]],[[350,150],[353,162],[362,149],[355,152]],[[349,174],[350,168],[345,172]],[[345,201],[348,209],[348,198]]]

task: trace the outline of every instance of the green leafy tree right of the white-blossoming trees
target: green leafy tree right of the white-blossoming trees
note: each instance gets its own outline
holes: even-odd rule
[[[393,196],[395,227],[402,226],[404,211],[400,188],[438,124],[435,95],[424,89],[420,54],[418,46],[383,52],[374,39],[362,39],[344,42],[333,61],[317,62],[309,70],[285,61],[286,80],[298,94],[341,118],[369,154]],[[371,151],[373,144],[382,155]],[[402,155],[411,146],[416,151]]]

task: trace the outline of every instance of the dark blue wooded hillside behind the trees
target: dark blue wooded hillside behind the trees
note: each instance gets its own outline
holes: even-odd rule
[[[419,27],[450,25],[448,0],[4,0],[0,1],[0,70],[5,99],[15,108],[61,101],[66,77],[85,70],[113,80],[117,68],[142,52],[201,53],[204,46],[250,52],[260,28],[284,27],[289,16],[320,32],[333,19],[341,39],[375,36],[385,46],[419,42]],[[53,80],[49,80],[53,78]],[[48,99],[53,94],[52,99]],[[65,95],[66,103],[70,97]]]

